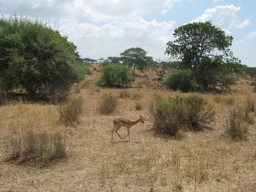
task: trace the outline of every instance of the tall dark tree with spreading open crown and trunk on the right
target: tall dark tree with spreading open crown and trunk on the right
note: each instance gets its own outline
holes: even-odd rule
[[[182,60],[187,68],[196,73],[203,57],[215,58],[226,56],[233,37],[210,21],[194,22],[180,26],[174,30],[175,40],[167,43],[166,54],[174,59]]]

